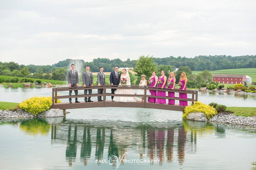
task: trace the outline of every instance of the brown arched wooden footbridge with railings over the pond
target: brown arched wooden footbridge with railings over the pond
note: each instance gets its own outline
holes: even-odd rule
[[[111,91],[111,88],[115,89],[144,89],[144,95],[128,95],[128,94],[111,94],[107,93],[106,91]],[[90,90],[90,89],[103,89],[103,94],[97,94],[93,93],[90,95],[65,95],[65,96],[58,96],[57,92],[63,92],[66,91],[66,94],[69,94],[70,90]],[[187,99],[181,99],[179,97],[168,97],[167,96],[152,96],[152,95],[147,95],[146,90],[157,90],[157,91],[165,91],[165,92],[175,92],[175,93],[186,93],[186,94],[192,94],[191,98]],[[83,92],[83,91],[82,91]],[[93,102],[84,102],[81,101],[81,103],[75,103],[73,100],[73,103],[57,103],[57,99],[67,99],[67,98],[75,98],[75,97],[97,97],[97,96],[103,96],[103,101],[93,101]],[[144,101],[141,102],[116,102],[116,101],[111,101],[106,100],[106,96],[126,96],[126,97],[144,97]],[[160,99],[172,99],[172,100],[183,100],[183,101],[191,101],[192,104],[194,101],[197,101],[198,93],[197,91],[191,91],[191,90],[171,90],[168,88],[158,88],[158,87],[139,87],[137,85],[131,85],[131,86],[111,86],[111,85],[103,85],[103,86],[93,86],[93,87],[83,87],[83,86],[78,86],[78,87],[58,87],[58,88],[53,88],[52,91],[52,107],[53,109],[77,109],[77,108],[94,108],[94,107],[132,107],[132,108],[151,108],[151,109],[164,109],[164,110],[173,110],[173,111],[184,111],[185,106],[179,106],[179,105],[169,105],[169,104],[158,104],[158,103],[149,103],[147,102],[147,97],[153,97],[153,98],[160,98]],[[189,96],[188,96],[189,97]],[[84,100],[84,99],[83,99]],[[168,102],[167,102],[168,103]]]

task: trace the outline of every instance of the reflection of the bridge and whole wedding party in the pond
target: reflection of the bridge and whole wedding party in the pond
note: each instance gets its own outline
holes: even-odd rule
[[[129,156],[129,159],[157,159],[160,166],[164,162],[171,163],[177,159],[182,165],[185,162],[185,150],[189,153],[197,151],[197,133],[203,131],[202,127],[190,128],[187,121],[166,122],[160,125],[120,125],[116,123],[111,127],[110,124],[102,126],[73,121],[52,124],[51,143],[66,143],[65,156],[69,166],[78,161],[78,150],[79,161],[84,165],[101,165],[100,160],[109,161],[110,155],[122,157],[125,152],[128,155],[121,160],[121,164],[124,164],[124,160]],[[214,126],[209,123],[202,126],[207,132],[215,131]]]

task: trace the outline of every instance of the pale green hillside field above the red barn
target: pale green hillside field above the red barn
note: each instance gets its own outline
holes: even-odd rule
[[[192,71],[193,74],[199,74],[202,71]],[[246,69],[226,69],[226,70],[215,70],[210,71],[211,74],[245,74],[249,75],[252,82],[256,82],[256,68],[246,68]]]

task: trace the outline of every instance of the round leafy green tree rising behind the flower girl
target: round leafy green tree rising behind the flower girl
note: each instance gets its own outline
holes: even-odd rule
[[[152,74],[152,71],[157,70],[156,63],[153,62],[153,56],[139,56],[139,60],[137,61],[134,71],[137,73],[138,77],[141,77],[142,74],[145,74],[147,78],[149,78]],[[136,84],[139,84],[140,79],[138,78]]]

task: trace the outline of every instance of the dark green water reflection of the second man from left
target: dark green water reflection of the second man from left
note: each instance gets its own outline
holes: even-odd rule
[[[86,136],[87,136],[87,139],[86,139]],[[90,134],[90,128],[87,128],[87,134],[86,134],[86,126],[85,126],[83,129],[83,142],[81,145],[80,159],[84,165],[87,165],[88,159],[90,158],[91,158],[91,134]]]

